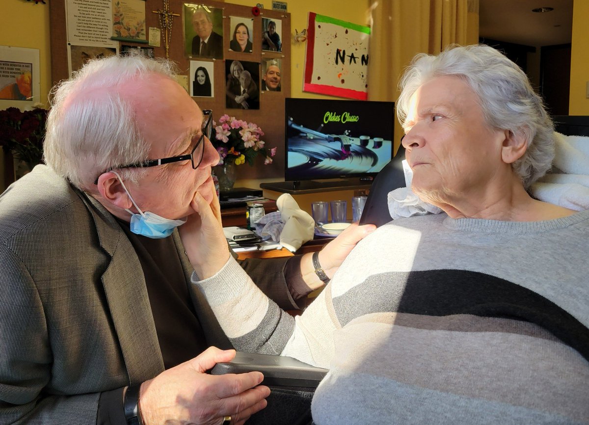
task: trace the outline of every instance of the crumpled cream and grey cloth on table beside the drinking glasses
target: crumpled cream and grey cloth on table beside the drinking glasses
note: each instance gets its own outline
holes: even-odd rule
[[[256,221],[256,233],[263,239],[272,238],[287,250],[294,253],[305,242],[315,236],[315,220],[299,204],[292,195],[285,193],[276,200],[278,211],[266,214]]]

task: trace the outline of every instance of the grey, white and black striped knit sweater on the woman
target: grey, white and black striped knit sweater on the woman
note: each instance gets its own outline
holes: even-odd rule
[[[584,423],[588,256],[589,211],[439,214],[370,234],[300,317],[232,260],[198,285],[238,350],[330,368],[317,424]]]

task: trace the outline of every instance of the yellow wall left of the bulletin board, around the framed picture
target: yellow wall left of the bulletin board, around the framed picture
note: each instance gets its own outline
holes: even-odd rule
[[[0,44],[39,49],[41,102],[47,104],[47,94],[51,88],[49,5],[25,0],[2,1]],[[4,152],[0,150],[0,192],[4,191],[4,187]]]

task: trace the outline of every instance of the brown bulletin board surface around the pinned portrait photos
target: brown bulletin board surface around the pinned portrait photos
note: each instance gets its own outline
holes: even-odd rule
[[[208,8],[221,9],[220,21],[223,31],[223,57],[222,58],[198,58],[187,54],[186,40],[189,26],[184,24],[185,4],[204,5]],[[207,68],[213,72],[213,88],[211,97],[193,97],[201,109],[212,109],[213,119],[218,121],[221,115],[229,114],[237,119],[254,122],[264,131],[263,140],[266,147],[276,146],[276,156],[270,165],[263,165],[263,158],[256,158],[256,166],[243,165],[238,167],[238,178],[262,179],[262,178],[284,178],[284,98],[290,97],[290,39],[291,22],[290,14],[271,9],[259,9],[259,14],[251,6],[234,5],[230,3],[207,1],[180,1],[170,0],[170,12],[180,16],[174,16],[169,41],[169,59],[176,62],[179,75],[184,76],[187,81],[187,90],[190,94],[190,61],[208,62]],[[154,57],[166,57],[164,42],[164,29],[160,26],[160,15],[153,11],[164,8],[163,0],[145,0],[145,27],[160,28],[160,47],[153,47]],[[233,17],[233,18],[232,18]],[[235,23],[236,18],[251,22],[253,41],[252,52],[239,52],[230,49],[230,41],[233,38],[234,28],[231,22]],[[262,22],[263,19],[272,19],[280,23],[282,34],[282,51],[262,50]],[[186,18],[190,19],[190,18]],[[216,22],[215,27],[220,28],[221,22]],[[264,22],[267,22],[264,21]],[[49,2],[49,24],[51,26],[51,78],[53,84],[69,77],[68,71],[68,40],[65,0],[52,0]],[[187,33],[185,35],[185,32]],[[119,48],[123,45],[130,47],[150,48],[147,44],[134,43],[131,40],[119,41]],[[127,47],[128,48],[128,47]],[[259,109],[232,109],[226,107],[226,64],[234,60],[243,62],[254,62],[259,64],[258,87],[262,87],[262,68],[270,59],[275,59],[281,64],[282,79],[280,91],[260,91]],[[252,65],[253,66],[253,65]],[[194,65],[193,65],[194,67]]]

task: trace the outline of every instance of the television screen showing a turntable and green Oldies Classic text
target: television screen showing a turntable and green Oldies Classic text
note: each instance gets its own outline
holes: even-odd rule
[[[394,107],[287,98],[284,180],[373,177],[392,158]]]

